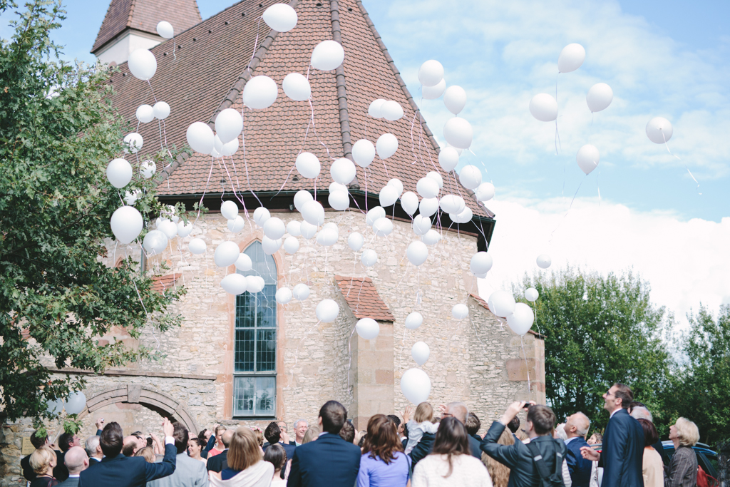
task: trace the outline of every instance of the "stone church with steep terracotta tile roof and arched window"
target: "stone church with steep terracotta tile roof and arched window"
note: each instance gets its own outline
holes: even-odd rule
[[[190,236],[175,237],[161,255],[145,259],[139,245],[108,243],[110,266],[124,256],[145,260],[147,269],[167,265],[169,270],[156,277],[157,285],[187,288],[171,307],[183,316],[183,325],[165,333],[148,331],[139,340],[164,354],[158,361],[109,369],[104,375],[58,371],[85,374],[88,380],[81,434],[93,434],[98,417],[107,423],[119,421],[129,432],[157,432],[161,415],[182,421],[193,432],[215,423],[265,426],[274,418],[288,421],[291,431],[299,418],[315,423],[320,405],[328,399],[345,404],[356,427],[365,429],[374,413],[401,413],[409,404],[400,380],[407,369],[418,367],[410,354],[418,341],[431,350],[421,367],[431,379],[429,401],[466,402],[481,418],[483,432],[515,399],[544,403],[542,340],[527,334],[522,346],[520,337],[488,310],[469,272],[470,258],[488,248],[495,216],[458,184],[453,173],[440,168],[439,144],[361,1],[291,0],[299,20],[285,33],[272,31],[260,20],[273,3],[244,0],[201,20],[195,0],[111,1],[92,52],[100,61],[118,66],[112,78],[113,103],[132,127],[137,126],[140,104],[161,100],[171,107],[164,126],[157,120],[140,124],[145,140],[141,153],[165,144],[182,147],[191,123],[213,127],[220,110],[242,110],[242,90],[250,77],[272,77],[279,96],[266,110],[243,110],[241,148],[232,158],[183,154],[173,164],[158,167],[155,177],[162,201],[182,202],[188,211],[202,202],[209,210],[199,218],[193,215]],[[172,23],[174,39],[158,36],[155,26],[160,20]],[[330,72],[309,69],[311,104],[289,99],[281,88],[283,78],[292,72],[306,75],[312,49],[326,39],[342,44],[344,63]],[[129,53],[139,47],[150,49],[157,59],[150,84],[132,76],[126,65]],[[369,117],[374,99],[398,102],[404,116],[396,121]],[[348,187],[350,208],[332,210],[331,161],[351,158],[358,139],[375,142],[385,133],[399,140],[395,155],[385,161],[376,157],[367,169],[357,166],[356,179]],[[300,150],[322,162],[316,183],[300,178],[294,169]],[[131,154],[126,158],[137,170],[138,159]],[[364,210],[379,204],[380,188],[391,178],[401,180],[404,191],[415,192],[418,180],[430,171],[442,176],[441,194],[461,193],[474,217],[457,224],[437,212],[431,219],[441,239],[429,246],[429,257],[417,269],[405,250],[419,237],[399,202],[385,209],[393,221],[388,237],[374,237]],[[233,233],[220,214],[221,202],[231,200],[239,205],[240,215],[247,210],[250,216],[263,205],[284,223],[301,221],[293,205],[299,190],[310,191],[323,204],[327,223],[337,223],[334,246],[325,248],[315,239],[299,237],[296,253],[281,248],[269,256],[262,250],[263,233],[253,218],[246,217],[245,228]],[[377,253],[374,266],[364,267],[361,252],[347,246],[347,237],[355,231],[364,235],[364,248]],[[193,238],[207,243],[205,253],[188,250]],[[245,274],[264,278],[261,293],[231,296],[220,287],[223,277],[237,272],[235,266],[215,266],[215,248],[226,241],[236,242],[250,256],[253,269]],[[310,296],[277,304],[277,288],[298,283],[310,287]],[[336,321],[318,322],[315,307],[322,299],[339,304]],[[469,315],[456,320],[451,310],[460,303],[468,306]],[[413,311],[423,315],[423,324],[406,329],[405,318]],[[360,318],[379,323],[375,340],[353,333]],[[139,345],[123,329],[104,337],[115,339]],[[0,485],[18,485],[18,459],[23,438],[30,433],[29,421],[4,425]]]

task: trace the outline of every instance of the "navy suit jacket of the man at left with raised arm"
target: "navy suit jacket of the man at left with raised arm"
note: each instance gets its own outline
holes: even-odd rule
[[[79,487],[145,487],[150,480],[172,475],[176,456],[175,445],[165,445],[165,456],[159,464],[148,464],[141,456],[121,453],[113,458],[105,456],[99,464],[81,472]]]

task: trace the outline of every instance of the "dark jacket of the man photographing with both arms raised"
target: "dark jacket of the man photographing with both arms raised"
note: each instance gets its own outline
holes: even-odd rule
[[[534,487],[539,485],[540,476],[527,445],[519,440],[514,445],[499,445],[497,441],[499,441],[502,432],[504,432],[504,424],[494,421],[487,434],[485,434],[484,440],[482,440],[482,451],[499,461],[499,463],[510,467],[508,487]],[[565,443],[562,440],[553,440],[550,435],[536,437],[530,441],[537,445],[542,459],[545,460],[545,464],[548,466],[548,471],[551,474],[555,472],[556,453],[562,453],[565,456]]]

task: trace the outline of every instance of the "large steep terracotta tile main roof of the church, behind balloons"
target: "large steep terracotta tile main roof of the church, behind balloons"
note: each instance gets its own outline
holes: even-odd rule
[[[459,185],[453,175],[442,172],[437,163],[438,145],[426,123],[419,123],[418,107],[360,1],[292,0],[290,4],[299,18],[296,28],[277,33],[261,22],[261,47],[257,48],[250,72],[246,70],[258,18],[276,1],[264,0],[263,7],[258,7],[258,1],[242,1],[180,34],[177,61],[172,58],[169,42],[153,48],[158,69],[151,83],[157,99],[172,107],[166,119],[166,134],[167,142],[177,147],[185,144],[185,131],[194,121],[212,126],[218,111],[227,107],[242,110],[240,93],[250,77],[265,74],[279,85],[279,96],[272,107],[245,110],[245,152],[239,150],[232,161],[227,158],[225,163],[193,154],[168,169],[172,174],[161,183],[161,195],[231,191],[231,180],[241,191],[279,191],[285,181],[284,190],[312,190],[312,180],[294,178],[294,161],[300,150],[320,158],[322,172],[317,188],[326,188],[331,183],[331,162],[349,157],[354,141],[367,138],[374,143],[381,134],[390,132],[399,139],[398,151],[385,161],[376,156],[367,172],[357,166],[356,181],[362,191],[377,195],[392,177],[403,182],[404,191],[415,191],[420,177],[437,171],[445,181],[443,191],[461,193],[475,215],[493,216],[469,197],[471,192]],[[325,39],[342,43],[345,62],[332,72],[310,69],[312,127],[310,104],[289,99],[281,83],[291,72],[307,74],[312,49]],[[120,69],[126,76],[115,75],[113,101],[122,115],[137,126],[134,112],[139,104],[153,103],[153,94],[147,83],[129,74],[126,64]],[[379,98],[401,104],[403,118],[393,122],[366,116],[370,102]],[[142,124],[139,133],[150,150],[160,143],[155,123]],[[239,142],[243,146],[243,139]]]

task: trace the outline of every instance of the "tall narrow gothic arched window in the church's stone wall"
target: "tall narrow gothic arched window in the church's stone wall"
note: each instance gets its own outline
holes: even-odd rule
[[[264,278],[264,289],[236,296],[234,350],[234,416],[276,415],[276,294],[277,269],[261,242],[244,250],[251,258],[250,271],[239,274]]]

